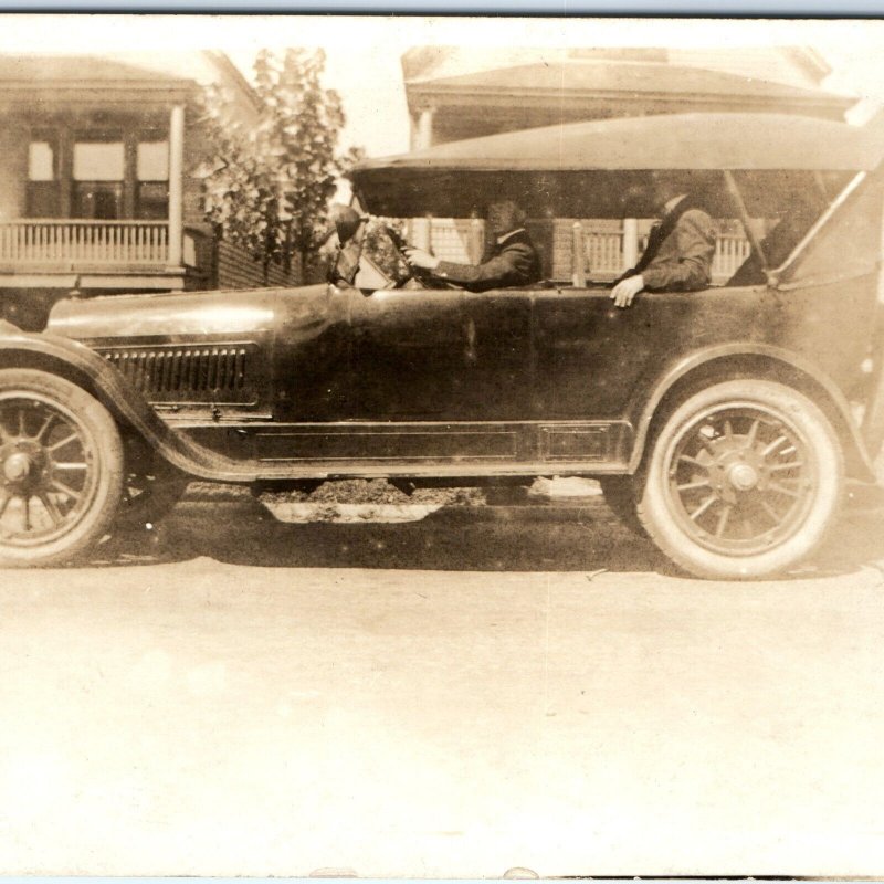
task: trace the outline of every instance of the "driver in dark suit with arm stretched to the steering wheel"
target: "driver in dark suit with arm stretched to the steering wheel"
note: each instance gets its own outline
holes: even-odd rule
[[[471,292],[530,285],[540,280],[540,257],[523,227],[525,213],[512,200],[488,206],[488,228],[496,241],[492,256],[482,264],[455,264],[409,246],[406,257],[412,267],[429,271],[436,278],[462,285]]]

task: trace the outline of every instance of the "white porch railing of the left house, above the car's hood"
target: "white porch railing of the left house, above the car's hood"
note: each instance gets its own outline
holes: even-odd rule
[[[140,267],[168,261],[166,221],[29,218],[0,222],[0,264]]]

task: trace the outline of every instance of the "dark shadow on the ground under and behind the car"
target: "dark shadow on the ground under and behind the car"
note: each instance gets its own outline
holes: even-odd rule
[[[677,576],[648,539],[601,502],[551,511],[451,507],[421,522],[276,522],[254,502],[183,503],[155,533],[112,538],[92,565],[186,561],[200,556],[249,567],[399,568],[451,571],[639,571]],[[558,514],[559,516],[561,514]],[[884,569],[884,509],[849,509],[825,545],[785,579]]]

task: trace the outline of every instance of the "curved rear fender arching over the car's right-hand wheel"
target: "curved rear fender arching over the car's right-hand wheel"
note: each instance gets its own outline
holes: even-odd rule
[[[776,375],[771,378],[768,372],[774,370]],[[714,345],[686,354],[670,362],[650,383],[642,385],[643,390],[650,392],[630,403],[629,418],[635,428],[629,459],[630,473],[639,470],[652,422],[661,408],[665,408],[666,401],[693,378],[699,381],[716,376],[768,377],[792,383],[810,394],[834,419],[835,429],[845,443],[845,453],[854,466],[855,477],[864,482],[875,481],[872,457],[851,413],[850,403],[832,378],[800,354],[769,344],[748,341]]]

